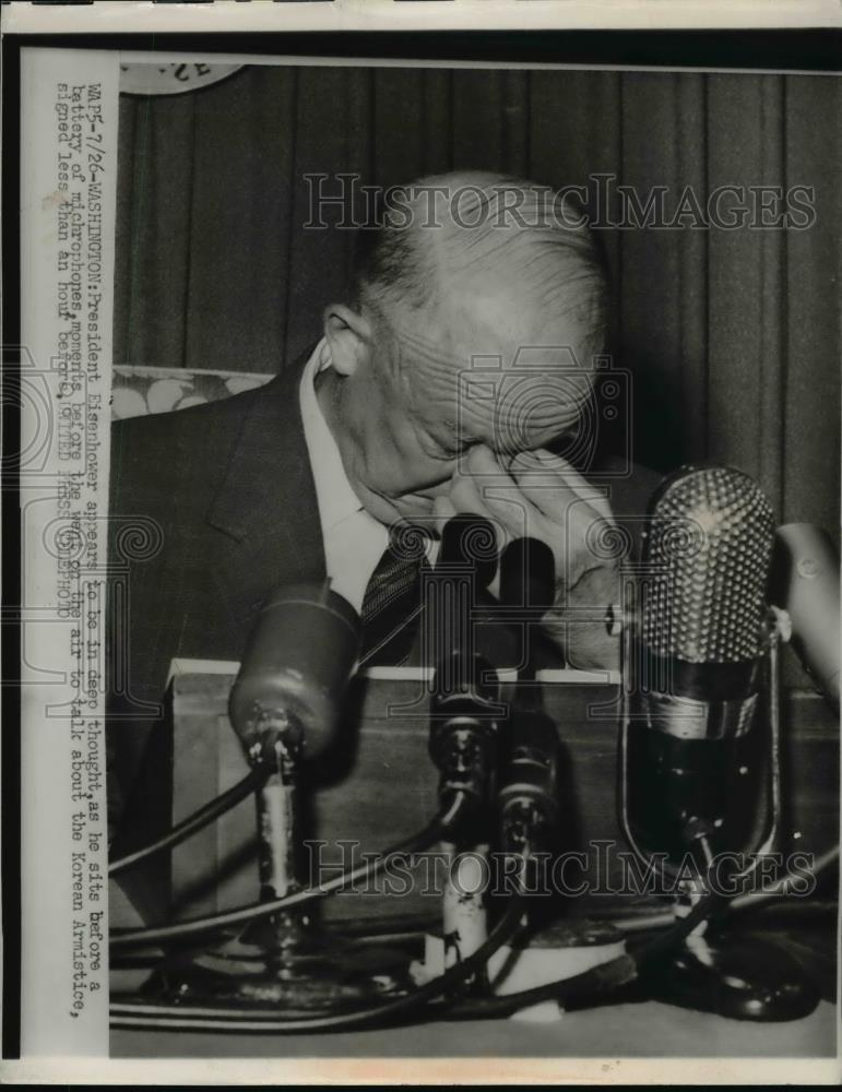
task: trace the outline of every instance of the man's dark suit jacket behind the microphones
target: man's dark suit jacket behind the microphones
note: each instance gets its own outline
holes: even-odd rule
[[[114,426],[108,740],[115,823],[159,720],[173,657],[239,660],[276,584],[325,575],[299,411],[305,359],[257,390]],[[652,485],[651,475],[639,473],[613,484],[620,521],[644,510]],[[121,622],[116,614],[124,587]]]

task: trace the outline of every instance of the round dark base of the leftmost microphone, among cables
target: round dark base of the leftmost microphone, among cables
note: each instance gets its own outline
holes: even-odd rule
[[[266,945],[269,933],[247,927],[206,951],[168,957],[141,995],[153,1002],[295,1019],[365,1008],[412,987],[405,952],[336,943],[304,923],[283,943]]]

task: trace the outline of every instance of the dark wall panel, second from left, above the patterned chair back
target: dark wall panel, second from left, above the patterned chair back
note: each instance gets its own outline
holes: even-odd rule
[[[185,346],[191,367],[213,367],[207,361],[225,353],[237,370],[273,370],[287,319],[294,81],[288,69],[264,68],[195,97]],[[269,139],[254,141],[238,123],[242,117]],[[248,200],[234,197],[244,178]],[[260,238],[266,242],[256,247]]]

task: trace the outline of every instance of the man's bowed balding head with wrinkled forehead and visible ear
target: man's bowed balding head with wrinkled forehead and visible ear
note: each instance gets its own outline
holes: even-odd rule
[[[320,403],[378,519],[424,510],[472,444],[512,455],[581,417],[606,292],[570,203],[523,179],[441,175],[390,193],[360,242],[354,306],[325,311]]]

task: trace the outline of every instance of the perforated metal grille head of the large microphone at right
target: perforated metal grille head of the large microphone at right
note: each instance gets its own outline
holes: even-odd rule
[[[650,653],[689,664],[757,660],[773,535],[769,501],[740,471],[686,466],[668,477],[645,533]]]

